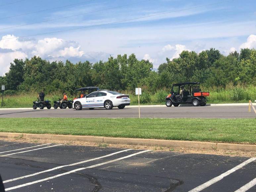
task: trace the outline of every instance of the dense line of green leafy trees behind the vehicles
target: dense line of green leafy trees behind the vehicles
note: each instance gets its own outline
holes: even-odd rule
[[[211,48],[197,54],[183,51],[179,58],[166,58],[157,71],[148,60],[138,60],[134,54],[109,57],[94,64],[89,61],[73,64],[69,60],[49,62],[40,57],[15,59],[10,70],[0,76],[9,92],[68,92],[84,86],[101,89],[133,90],[143,86],[150,92],[170,88],[173,83],[198,81],[204,87],[223,87],[229,83],[256,84],[256,50],[241,49],[224,56]]]

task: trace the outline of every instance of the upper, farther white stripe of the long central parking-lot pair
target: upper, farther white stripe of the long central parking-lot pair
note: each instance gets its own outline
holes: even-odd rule
[[[33,173],[33,174],[17,177],[17,178],[14,178],[14,179],[5,180],[5,181],[3,181],[3,183],[8,183],[8,182],[19,180],[19,179],[24,179],[24,178],[27,178],[27,177],[31,177],[31,176],[34,176],[34,175],[38,175],[38,174],[41,174],[41,173],[49,172],[49,171],[52,171],[52,170],[56,170],[56,169],[60,169],[60,168],[68,167],[68,166],[75,166],[75,165],[78,165],[78,164],[82,164],[82,163],[86,163],[86,162],[90,162],[90,161],[95,161],[95,160],[98,160],[98,159],[101,159],[101,158],[110,157],[112,155],[116,155],[118,153],[122,153],[122,152],[125,152],[125,151],[130,151],[130,150],[132,150],[132,149],[126,149],[126,150],[123,150],[123,151],[118,151],[118,152],[115,152],[115,153],[111,153],[109,155],[104,155],[104,156],[101,156],[101,157],[96,157],[94,159],[80,161],[80,162],[72,163],[72,164],[69,164],[69,165],[58,166],[58,167],[55,167],[55,168],[47,169],[47,170],[36,172],[36,173]]]

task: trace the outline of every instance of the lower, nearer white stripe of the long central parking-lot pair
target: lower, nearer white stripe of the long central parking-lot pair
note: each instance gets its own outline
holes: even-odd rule
[[[151,151],[151,150],[140,151],[140,152],[137,152],[137,153],[125,156],[125,157],[121,157],[121,158],[118,158],[118,159],[114,159],[114,160],[111,160],[111,161],[107,161],[107,162],[104,162],[104,163],[99,163],[99,164],[84,167],[84,168],[74,169],[74,170],[67,171],[65,173],[61,173],[61,174],[54,175],[54,176],[51,176],[51,177],[47,177],[47,178],[44,178],[44,179],[32,181],[32,182],[25,183],[25,184],[22,184],[22,185],[17,185],[17,186],[14,186],[14,187],[9,187],[9,188],[5,189],[5,191],[9,191],[9,190],[12,190],[12,189],[18,189],[18,188],[25,187],[25,186],[28,186],[28,185],[32,185],[32,184],[35,184],[35,183],[39,183],[39,182],[42,182],[42,181],[47,181],[49,179],[54,179],[54,178],[57,178],[57,177],[60,177],[60,176],[63,176],[63,175],[67,175],[67,174],[70,174],[70,173],[74,173],[74,172],[77,172],[77,171],[80,171],[80,170],[83,170],[83,169],[99,167],[99,166],[102,166],[102,165],[105,165],[105,164],[108,164],[108,163],[113,163],[113,162],[116,162],[116,161],[119,161],[119,160],[122,160],[122,159],[126,159],[126,158],[129,158],[129,157],[141,154],[141,153],[148,152],[148,151]]]

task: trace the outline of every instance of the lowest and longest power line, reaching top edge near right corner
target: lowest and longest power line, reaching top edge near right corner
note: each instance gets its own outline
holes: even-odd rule
[[[65,32],[65,31],[72,31],[72,30],[83,29],[83,28],[90,28],[90,27],[108,25],[108,24],[122,23],[122,22],[127,22],[127,21],[133,21],[133,20],[138,20],[138,19],[144,19],[144,18],[148,18],[148,17],[154,17],[154,16],[159,16],[159,15],[165,15],[165,14],[168,14],[168,13],[175,13],[175,12],[179,12],[179,11],[185,11],[185,10],[196,9],[196,8],[200,8],[200,7],[206,7],[206,6],[210,6],[210,5],[217,5],[217,4],[221,4],[221,3],[227,3],[227,2],[231,2],[231,1],[234,1],[234,0],[221,1],[221,2],[217,2],[217,3],[211,3],[211,4],[207,4],[207,5],[201,5],[201,6],[196,6],[196,7],[186,8],[186,9],[180,9],[180,10],[176,10],[176,11],[170,11],[170,12],[165,12],[165,13],[160,13],[160,14],[154,14],[154,15],[149,15],[149,16],[144,16],[144,17],[138,17],[138,18],[133,18],[133,19],[128,19],[128,20],[122,20],[122,21],[116,21],[116,22],[111,22],[111,23],[97,24],[97,25],[90,25],[90,26],[83,26],[83,27],[78,27],[78,28],[73,28],[73,29],[65,29],[65,30],[59,30],[59,31],[53,31],[53,32],[46,32],[46,33],[38,33],[38,34],[25,35],[25,36],[20,36],[20,37],[10,37],[10,38],[5,38],[5,39],[2,38],[1,40],[17,39],[17,38],[21,38],[21,37],[31,37],[31,36],[37,36],[37,35],[45,35],[45,34],[52,34],[52,33],[58,33],[58,32]]]

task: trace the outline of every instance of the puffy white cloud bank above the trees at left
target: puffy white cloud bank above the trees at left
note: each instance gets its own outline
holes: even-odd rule
[[[50,61],[70,59],[72,62],[85,60],[95,62],[107,58],[107,54],[103,52],[84,53],[75,41],[56,37],[39,40],[20,40],[15,37],[5,35],[0,41],[0,75],[9,71],[10,63],[14,59],[25,59],[34,55]]]

